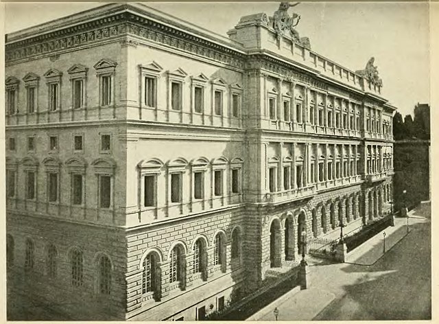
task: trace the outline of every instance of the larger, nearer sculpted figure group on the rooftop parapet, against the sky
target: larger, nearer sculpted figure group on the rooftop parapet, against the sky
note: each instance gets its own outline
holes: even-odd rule
[[[296,5],[298,5],[299,3],[300,2],[296,2],[296,3],[281,2],[278,10],[274,12],[274,15],[272,17],[273,28],[274,30],[276,30],[277,33],[276,36],[278,43],[280,43],[283,34],[289,31],[289,34],[292,36],[294,41],[300,43],[305,47],[311,48],[311,43],[309,42],[309,38],[307,37],[300,38],[299,33],[294,28],[298,25],[300,21],[300,15],[296,14],[296,12],[293,12],[292,16],[289,16],[288,14],[288,9],[292,7],[296,7]]]

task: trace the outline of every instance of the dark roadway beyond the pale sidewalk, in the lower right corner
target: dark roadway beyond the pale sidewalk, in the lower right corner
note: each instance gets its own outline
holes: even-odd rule
[[[327,277],[318,286],[326,285],[325,289],[334,292],[336,298],[314,319],[431,319],[429,219],[411,218],[410,228],[412,231],[372,266],[327,267]],[[340,285],[342,273],[347,276]]]

